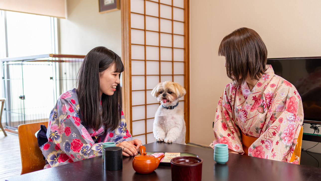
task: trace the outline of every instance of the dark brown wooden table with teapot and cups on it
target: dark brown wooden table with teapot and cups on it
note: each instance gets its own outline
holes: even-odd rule
[[[146,151],[193,153],[203,158],[202,180],[215,181],[308,181],[321,180],[321,168],[295,165],[263,158],[249,157],[230,153],[226,164],[216,164],[214,151],[208,148],[154,142],[144,145]],[[8,181],[24,180],[171,180],[170,166],[159,166],[150,174],[138,174],[134,171],[133,157],[123,157],[123,169],[106,171],[100,157],[69,163],[66,165],[39,170],[21,176],[9,178]]]

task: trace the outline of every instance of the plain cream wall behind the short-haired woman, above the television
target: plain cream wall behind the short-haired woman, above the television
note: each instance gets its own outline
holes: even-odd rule
[[[320,9],[319,0],[190,0],[190,142],[214,139],[217,102],[230,82],[217,55],[223,37],[248,27],[262,37],[268,58],[321,56]],[[302,148],[315,144],[303,141]]]

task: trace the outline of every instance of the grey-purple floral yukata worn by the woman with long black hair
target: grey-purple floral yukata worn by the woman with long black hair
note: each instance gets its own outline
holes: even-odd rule
[[[100,106],[101,109],[101,106]],[[48,164],[45,168],[101,155],[102,142],[132,140],[128,133],[124,114],[121,114],[119,127],[105,130],[105,125],[94,130],[82,125],[77,89],[63,93],[51,111],[47,138],[48,142],[40,147]]]

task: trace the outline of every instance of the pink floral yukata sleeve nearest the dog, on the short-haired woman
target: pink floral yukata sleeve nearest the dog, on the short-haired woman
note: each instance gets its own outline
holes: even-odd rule
[[[214,148],[215,144],[223,143],[233,151],[244,153],[240,132],[233,118],[233,104],[230,103],[231,98],[228,95],[229,87],[226,87],[217,105],[213,127],[215,139],[210,147]]]

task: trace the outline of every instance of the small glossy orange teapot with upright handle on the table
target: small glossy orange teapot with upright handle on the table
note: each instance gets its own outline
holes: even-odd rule
[[[152,173],[160,164],[160,160],[165,157],[165,155],[157,158],[152,155],[147,155],[146,148],[144,146],[139,147],[139,153],[141,155],[136,155],[134,157],[133,168],[140,174]]]

